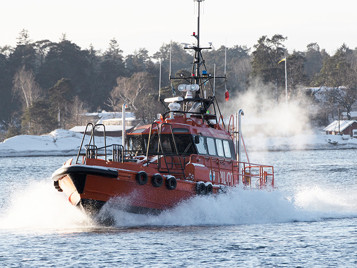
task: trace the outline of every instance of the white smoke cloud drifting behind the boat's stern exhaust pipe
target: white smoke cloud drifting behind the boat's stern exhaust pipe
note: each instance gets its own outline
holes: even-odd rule
[[[303,88],[298,90],[294,98],[288,96],[286,102],[285,89],[279,89],[278,101],[275,101],[273,84],[253,81],[247,91],[240,93],[228,102],[222,103],[221,111],[228,125],[229,116],[236,115],[239,109],[242,116],[242,133],[244,139],[254,138],[254,147],[264,149],[268,144],[284,139],[285,146],[303,149],[308,135],[314,134],[311,127],[311,100],[304,94]],[[236,123],[235,123],[236,125]],[[275,140],[274,140],[275,139]],[[289,144],[289,143],[294,144]]]

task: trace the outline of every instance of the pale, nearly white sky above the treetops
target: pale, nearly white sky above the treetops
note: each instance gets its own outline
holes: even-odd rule
[[[171,40],[192,43],[197,32],[193,0],[17,0],[1,4],[0,47],[16,46],[22,29],[33,41],[58,42],[62,34],[82,49],[106,51],[113,38],[123,55],[146,48],[149,55]],[[201,5],[201,46],[252,47],[263,36],[282,34],[289,53],[317,42],[329,54],[346,43],[357,47],[357,2],[317,0],[206,0]],[[252,50],[251,50],[252,51]]]

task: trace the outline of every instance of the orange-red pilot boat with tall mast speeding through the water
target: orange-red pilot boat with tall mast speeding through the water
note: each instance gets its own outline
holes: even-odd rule
[[[192,197],[221,194],[237,185],[274,187],[273,166],[241,161],[243,111],[231,115],[228,125],[223,120],[215,79],[227,79],[206,68],[202,50],[212,46],[200,47],[203,0],[194,1],[198,4],[198,32],[192,36],[197,43],[184,47],[194,52],[192,72],[190,76],[170,74],[171,81],[183,81],[177,90],[185,96],[162,100],[159,94],[166,112],[130,133],[124,131],[123,104],[122,144],[107,145],[105,126],[88,124],[77,159],[69,159],[52,175],[55,188],[90,215],[98,215],[113,199],[121,210],[156,214]],[[104,129],[101,146],[95,142],[98,127]],[[86,138],[89,142],[83,145]]]

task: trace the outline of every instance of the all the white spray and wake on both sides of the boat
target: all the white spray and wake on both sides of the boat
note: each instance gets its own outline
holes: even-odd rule
[[[10,196],[0,214],[0,229],[81,232],[97,228],[89,216],[68,203],[46,181],[32,182]],[[197,196],[159,215],[133,214],[116,209],[115,199],[101,213],[112,215],[115,227],[244,225],[312,222],[357,217],[357,196],[319,187],[282,190],[244,190],[235,187],[217,196]]]

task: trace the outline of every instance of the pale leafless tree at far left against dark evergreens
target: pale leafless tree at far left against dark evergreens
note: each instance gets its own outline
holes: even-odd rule
[[[32,70],[26,70],[25,66],[22,66],[16,72],[13,80],[13,92],[20,96],[27,108],[39,99],[40,86],[36,83]]]

